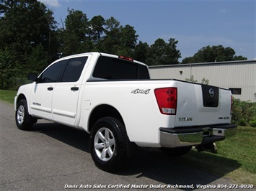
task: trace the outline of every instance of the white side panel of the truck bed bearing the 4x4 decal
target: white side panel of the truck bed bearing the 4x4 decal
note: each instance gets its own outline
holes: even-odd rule
[[[165,84],[158,85],[158,87],[161,86],[165,87]],[[150,81],[89,82],[84,88],[87,95],[84,98],[84,104],[81,104],[81,108],[87,104],[85,101],[89,101],[91,106],[89,110],[82,109],[81,116],[89,117],[93,108],[102,104],[113,106],[122,113],[130,141],[134,141],[138,145],[159,146],[159,127],[173,126],[175,116],[159,113],[154,87],[156,85],[150,83]],[[149,90],[149,93],[131,93],[137,88]],[[157,118],[157,120],[154,120],[154,118]],[[85,130],[87,130],[87,121],[88,118],[81,118],[79,126],[85,127]]]

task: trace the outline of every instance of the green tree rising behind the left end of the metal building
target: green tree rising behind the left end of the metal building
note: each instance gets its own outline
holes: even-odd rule
[[[156,39],[153,45],[148,49],[146,62],[149,65],[173,65],[177,64],[180,56],[180,50],[176,49],[178,41],[170,38],[169,43],[164,39]]]

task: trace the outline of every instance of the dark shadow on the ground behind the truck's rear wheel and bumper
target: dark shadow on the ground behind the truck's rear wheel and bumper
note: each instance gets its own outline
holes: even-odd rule
[[[224,175],[241,167],[239,162],[194,150],[182,157],[168,157],[160,149],[142,149],[138,156],[131,159],[131,164],[125,172],[120,174],[137,174],[137,177],[148,177],[167,185],[211,185]],[[211,156],[211,161],[207,158]],[[195,157],[195,158],[194,158]],[[200,157],[201,159],[197,159]],[[203,160],[203,164],[201,161]],[[212,162],[215,161],[215,164]],[[218,162],[231,164],[224,169],[213,169]],[[208,164],[207,164],[208,163]],[[213,166],[209,168],[209,166]],[[217,167],[218,168],[218,167]],[[228,181],[227,181],[228,182]],[[228,184],[228,183],[225,184]]]

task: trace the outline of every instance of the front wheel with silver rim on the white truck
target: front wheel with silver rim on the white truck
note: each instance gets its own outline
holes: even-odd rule
[[[16,125],[19,129],[29,130],[37,122],[37,118],[30,116],[27,111],[27,101],[22,99],[17,104],[17,109],[15,113]]]

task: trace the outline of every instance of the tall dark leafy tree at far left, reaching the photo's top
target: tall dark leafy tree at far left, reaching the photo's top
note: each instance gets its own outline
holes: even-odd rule
[[[8,67],[0,67],[0,73],[5,75],[1,88],[4,84],[4,88],[13,88],[10,79],[24,78],[30,71],[40,70],[47,64],[39,66],[38,62],[29,62],[32,52],[43,49],[43,60],[47,61],[56,57],[57,48],[52,46],[57,44],[52,32],[56,22],[53,12],[36,0],[1,0],[0,3],[1,66],[6,65],[7,57],[9,60]]]

